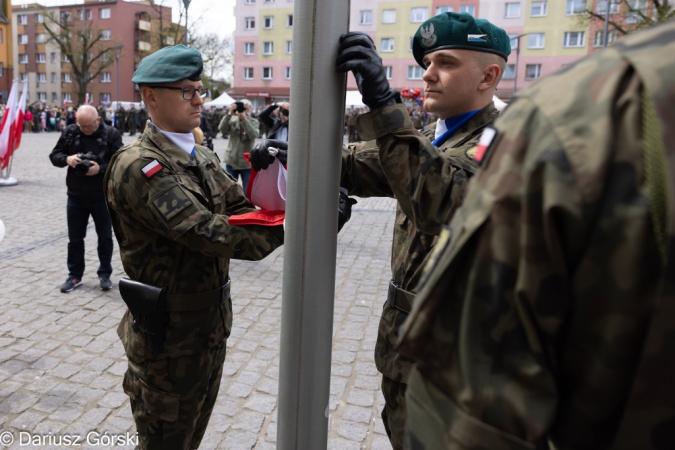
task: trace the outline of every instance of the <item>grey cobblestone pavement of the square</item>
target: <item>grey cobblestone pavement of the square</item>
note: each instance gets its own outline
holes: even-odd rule
[[[12,169],[20,184],[0,187],[7,228],[0,244],[0,431],[12,433],[11,449],[133,448],[102,445],[109,439],[104,433],[133,435],[135,425],[115,332],[126,309],[117,290],[122,266],[115,243],[114,288],[99,290],[93,223],[84,285],[59,291],[67,277],[68,236],[65,169],[48,159],[57,138],[24,134]],[[226,141],[215,144],[222,156]],[[391,199],[360,199],[338,239],[332,450],[391,449],[379,415],[373,349],[390,275],[394,206]],[[232,262],[234,328],[203,449],[276,448],[283,256],[282,247],[262,262]],[[67,435],[88,432],[94,433],[89,443],[66,445]],[[0,433],[0,448],[7,438]],[[27,441],[33,445],[22,445]]]

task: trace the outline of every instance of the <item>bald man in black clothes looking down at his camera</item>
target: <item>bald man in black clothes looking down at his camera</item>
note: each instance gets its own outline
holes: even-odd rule
[[[96,108],[84,105],[77,110],[75,124],[63,130],[49,155],[56,167],[68,166],[68,279],[61,285],[61,292],[70,292],[82,284],[84,237],[90,215],[98,235],[100,287],[104,291],[112,288],[112,226],[103,197],[103,174],[120,147],[119,131],[104,124]]]

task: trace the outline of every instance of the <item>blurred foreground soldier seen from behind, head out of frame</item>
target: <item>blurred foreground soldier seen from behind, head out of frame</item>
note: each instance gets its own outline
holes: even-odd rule
[[[675,448],[664,55],[672,20],[519,93],[484,132],[403,329],[410,448]]]

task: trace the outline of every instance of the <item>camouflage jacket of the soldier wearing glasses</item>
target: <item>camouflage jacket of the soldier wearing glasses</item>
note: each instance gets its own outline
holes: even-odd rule
[[[155,160],[162,170],[147,178],[142,169]],[[230,258],[260,260],[283,241],[281,226],[229,225],[228,216],[255,210],[241,187],[208,148],[196,146],[195,156],[190,156],[151,123],[138,139],[115,153],[104,187],[124,271],[132,280],[170,294],[217,289],[227,280]],[[231,306],[225,314],[229,328]],[[168,354],[187,354],[204,346],[194,336],[193,345],[185,343],[185,336],[191,336],[186,317],[194,313],[167,315],[174,323],[174,332],[166,335]],[[142,345],[130,349],[143,343],[141,333],[129,326],[125,336],[128,353],[148,356]]]

